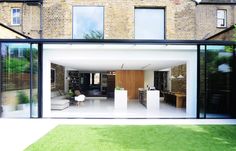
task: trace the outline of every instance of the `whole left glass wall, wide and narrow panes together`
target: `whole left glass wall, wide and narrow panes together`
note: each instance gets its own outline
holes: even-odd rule
[[[2,117],[37,117],[37,59],[38,45],[1,44]]]

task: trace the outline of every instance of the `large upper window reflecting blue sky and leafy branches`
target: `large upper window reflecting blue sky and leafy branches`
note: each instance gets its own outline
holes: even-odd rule
[[[103,39],[103,7],[73,8],[73,38]]]

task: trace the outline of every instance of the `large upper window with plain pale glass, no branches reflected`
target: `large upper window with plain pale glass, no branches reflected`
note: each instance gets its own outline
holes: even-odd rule
[[[135,9],[135,39],[164,39],[164,9]]]

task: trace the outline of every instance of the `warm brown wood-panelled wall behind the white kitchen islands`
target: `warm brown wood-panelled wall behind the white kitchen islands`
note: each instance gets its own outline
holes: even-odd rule
[[[128,99],[138,99],[138,88],[143,88],[144,71],[142,70],[118,70],[115,76],[116,87],[122,87],[128,91]]]

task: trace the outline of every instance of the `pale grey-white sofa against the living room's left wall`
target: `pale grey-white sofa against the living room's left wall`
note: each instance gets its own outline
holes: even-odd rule
[[[64,110],[70,106],[70,101],[66,99],[66,95],[62,94],[62,91],[51,92],[51,109],[52,110]]]

